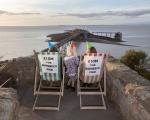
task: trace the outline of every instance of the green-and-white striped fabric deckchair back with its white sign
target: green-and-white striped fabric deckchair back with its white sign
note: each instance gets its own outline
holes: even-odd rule
[[[40,76],[43,80],[61,80],[60,75],[60,55],[58,52],[38,53]]]

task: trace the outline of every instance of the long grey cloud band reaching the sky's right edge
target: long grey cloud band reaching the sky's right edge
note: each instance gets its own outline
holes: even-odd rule
[[[139,17],[142,15],[150,14],[150,9],[141,10],[124,10],[124,11],[106,11],[100,13],[58,13],[57,16],[72,16],[78,18],[94,18],[94,17],[105,17],[105,16],[125,16],[125,17]]]

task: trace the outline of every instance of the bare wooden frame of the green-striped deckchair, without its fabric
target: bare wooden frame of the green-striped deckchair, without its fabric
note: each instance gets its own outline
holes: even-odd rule
[[[33,105],[33,111],[34,110],[57,110],[59,111],[60,109],[60,101],[61,101],[61,97],[63,96],[64,93],[64,73],[65,73],[65,69],[63,67],[62,64],[62,80],[61,80],[61,86],[60,87],[46,87],[46,88],[51,88],[51,89],[59,89],[59,91],[41,91],[42,87],[42,79],[39,79],[39,85],[38,85],[38,75],[40,74],[40,69],[39,69],[39,62],[38,62],[38,58],[37,58],[37,54],[36,51],[33,50],[34,52],[34,56],[35,56],[35,62],[36,62],[36,68],[35,68],[35,82],[34,82],[34,95],[35,97],[35,101],[34,101],[34,105]],[[63,63],[63,59],[62,59],[62,63]],[[39,95],[53,95],[53,96],[59,96],[58,98],[58,104],[57,106],[36,106]]]

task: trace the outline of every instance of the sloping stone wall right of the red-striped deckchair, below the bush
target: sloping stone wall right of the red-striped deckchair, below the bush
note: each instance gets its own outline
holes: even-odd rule
[[[125,120],[150,120],[150,81],[137,72],[109,59],[107,92]]]

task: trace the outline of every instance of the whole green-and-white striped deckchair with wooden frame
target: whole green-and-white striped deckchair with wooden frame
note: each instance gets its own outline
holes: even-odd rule
[[[36,68],[35,68],[35,83],[34,83],[34,95],[35,102],[33,110],[57,110],[60,108],[61,97],[64,91],[64,67],[63,60],[58,52],[39,52],[34,50]],[[61,66],[62,65],[62,66]],[[59,82],[59,86],[43,85],[43,81],[50,83]],[[39,106],[37,101],[39,95],[46,96],[58,96],[58,104],[56,106]]]

